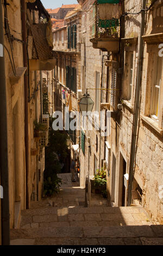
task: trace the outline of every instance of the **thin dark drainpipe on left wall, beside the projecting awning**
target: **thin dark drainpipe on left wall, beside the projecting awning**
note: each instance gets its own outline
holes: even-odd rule
[[[22,19],[22,40],[23,40],[23,65],[28,66],[27,59],[27,28],[26,28],[26,3],[21,0],[21,19]],[[29,144],[28,144],[28,70],[24,74],[24,113],[25,113],[25,147],[26,147],[26,208],[29,209]]]

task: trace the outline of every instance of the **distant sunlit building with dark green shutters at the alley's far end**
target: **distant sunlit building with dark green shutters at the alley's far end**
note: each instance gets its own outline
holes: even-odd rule
[[[54,29],[53,45],[56,53],[55,67],[55,111],[61,111],[64,130],[70,136],[71,159],[77,157],[79,147],[79,131],[71,131],[66,127],[66,113],[78,111],[78,92],[80,90],[80,8],[70,11],[65,17],[66,25]],[[72,114],[72,115],[73,115]],[[71,118],[71,117],[70,117]],[[70,124],[68,123],[68,126]],[[74,145],[76,147],[74,148]]]

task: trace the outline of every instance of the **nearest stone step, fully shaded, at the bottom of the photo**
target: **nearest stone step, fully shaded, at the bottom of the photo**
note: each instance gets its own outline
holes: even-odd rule
[[[162,241],[163,226],[162,225],[142,225],[142,226],[123,226],[123,227],[41,227],[32,229],[12,229],[10,231],[11,243],[14,241],[18,243],[18,240],[30,240],[33,244],[55,244],[55,241],[64,241],[65,245],[78,245],[83,239],[87,239],[89,242],[91,239],[96,241],[104,239],[110,241],[110,239],[155,239]],[[67,240],[68,239],[68,240]],[[67,240],[67,241],[66,241]],[[53,242],[52,242],[53,241]],[[69,242],[68,242],[69,241]],[[70,242],[71,241],[71,242]],[[77,242],[78,241],[78,242]],[[73,243],[74,242],[74,243]],[[102,242],[102,244],[103,244]],[[136,240],[135,240],[136,242]],[[63,243],[61,243],[62,245]],[[95,245],[96,243],[89,243]],[[105,244],[105,243],[104,243]],[[108,243],[106,243],[107,245]],[[121,243],[120,243],[121,244]]]

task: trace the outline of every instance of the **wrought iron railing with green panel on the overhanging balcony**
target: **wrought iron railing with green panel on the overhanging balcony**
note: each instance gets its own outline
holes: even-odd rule
[[[120,36],[120,15],[119,4],[98,4],[96,0],[90,10],[90,39],[118,38]]]

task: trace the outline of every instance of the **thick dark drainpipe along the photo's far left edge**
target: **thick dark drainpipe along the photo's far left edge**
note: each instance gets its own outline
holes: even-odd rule
[[[8,169],[8,123],[7,123],[7,95],[5,82],[4,35],[2,19],[2,0],[0,0],[0,175],[3,187],[1,199],[2,245],[10,245],[10,210],[9,210],[9,169]]]

